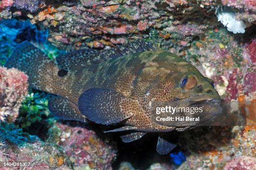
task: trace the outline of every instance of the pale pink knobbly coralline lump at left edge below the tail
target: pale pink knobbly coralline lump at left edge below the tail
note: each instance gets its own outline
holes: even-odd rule
[[[13,122],[18,117],[27,89],[28,76],[24,72],[0,67],[0,122]]]

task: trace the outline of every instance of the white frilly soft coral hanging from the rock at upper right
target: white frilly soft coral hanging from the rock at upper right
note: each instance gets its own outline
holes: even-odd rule
[[[236,13],[223,11],[217,14],[218,21],[228,28],[228,31],[236,33],[244,33],[246,24],[241,20],[236,20]]]

